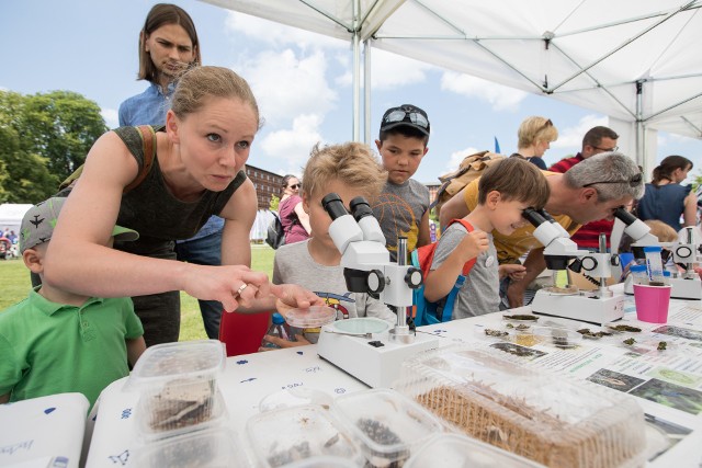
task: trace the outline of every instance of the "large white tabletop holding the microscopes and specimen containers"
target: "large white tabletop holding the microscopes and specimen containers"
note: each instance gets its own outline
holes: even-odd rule
[[[627,322],[635,321],[633,299],[629,299],[624,318]],[[528,308],[514,309],[510,313],[529,312]],[[441,345],[455,342],[489,341],[483,330],[486,327],[503,326],[502,313],[490,313],[473,319],[457,320],[449,323],[422,328],[422,332],[440,336]],[[540,319],[540,324],[548,324],[558,320],[546,317]],[[565,321],[573,329],[580,328],[577,322]],[[679,324],[688,330],[699,330],[702,340],[702,306],[700,301],[671,303],[669,324]],[[561,323],[563,324],[563,322]],[[639,323],[644,332],[658,326]],[[656,335],[658,336],[658,335]],[[691,395],[700,395],[702,404],[702,341],[701,347],[689,347],[684,340],[669,335],[659,335],[671,343],[671,353],[660,354],[652,358],[634,358],[625,346],[613,343],[582,341],[577,350],[557,350],[548,346],[534,346],[541,355],[525,362],[525,365],[548,368],[552,372],[568,374],[576,378],[610,375],[620,373],[631,380],[650,380],[655,376],[660,378],[661,370],[673,370],[681,376],[688,376],[692,383],[688,387]],[[652,335],[652,338],[655,338]],[[677,342],[676,342],[677,341]],[[684,341],[686,343],[688,341]],[[694,341],[690,341],[694,343]],[[689,344],[689,343],[688,343]],[[236,356],[227,359],[224,375],[219,379],[219,387],[229,410],[229,424],[240,435],[244,434],[246,421],[258,412],[262,398],[285,388],[315,388],[330,396],[366,388],[364,384],[349,376],[333,365],[320,359],[316,346],[303,346],[280,350],[269,353],[258,353]],[[695,353],[697,350],[697,354]],[[653,374],[652,374],[653,373]],[[697,380],[695,380],[697,379]],[[134,410],[137,396],[122,392],[125,379],[107,387],[102,396],[99,418],[93,432],[93,438],[88,457],[88,467],[129,466],[129,455],[138,441],[134,435]],[[644,411],[653,418],[663,421],[669,432],[681,432],[681,438],[675,446],[655,458],[652,467],[699,467],[702,463],[702,413],[692,414],[658,404],[644,398],[637,398]],[[702,410],[702,408],[701,408]],[[132,465],[133,466],[133,465]]]

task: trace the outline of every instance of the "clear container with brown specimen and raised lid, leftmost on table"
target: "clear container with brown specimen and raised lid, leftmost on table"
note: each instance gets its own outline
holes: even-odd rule
[[[158,344],[137,361],[126,389],[138,391],[137,427],[146,438],[218,424],[226,407],[217,389],[225,364],[217,340]]]

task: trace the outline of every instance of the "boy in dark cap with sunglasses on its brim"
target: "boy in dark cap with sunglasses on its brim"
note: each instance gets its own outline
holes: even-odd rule
[[[411,104],[390,107],[383,114],[375,140],[387,182],[373,214],[377,218],[390,260],[397,261],[397,237],[407,238],[407,252],[431,242],[429,233],[429,189],[410,179],[429,148],[427,113]]]

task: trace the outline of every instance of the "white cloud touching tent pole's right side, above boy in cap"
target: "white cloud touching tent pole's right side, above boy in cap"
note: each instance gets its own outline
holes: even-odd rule
[[[427,81],[427,72],[434,66],[389,52],[371,52],[371,89],[374,91],[421,83]]]

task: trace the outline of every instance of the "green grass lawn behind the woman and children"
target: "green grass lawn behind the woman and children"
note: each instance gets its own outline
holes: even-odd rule
[[[251,269],[273,276],[275,251],[268,244],[251,246]],[[24,299],[31,288],[30,271],[22,260],[0,260],[0,310]],[[180,340],[204,340],[207,338],[200,316],[197,300],[185,293],[180,294]]]

